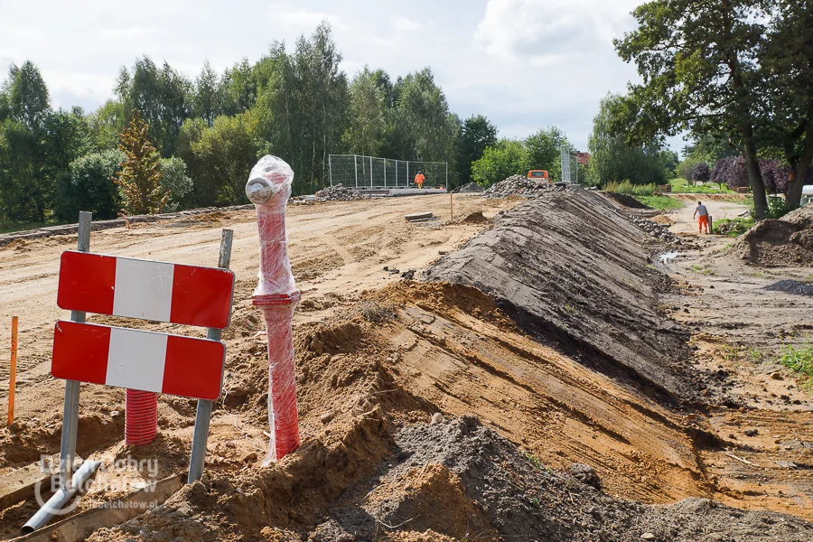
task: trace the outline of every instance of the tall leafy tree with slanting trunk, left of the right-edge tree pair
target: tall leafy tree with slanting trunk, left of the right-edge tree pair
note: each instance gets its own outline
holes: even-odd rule
[[[696,137],[724,133],[742,146],[757,218],[767,210],[758,162],[756,111],[760,97],[756,54],[766,12],[756,0],[653,0],[632,15],[638,28],[616,40],[643,82],[630,85],[615,131],[648,144],[655,135],[687,130]]]

